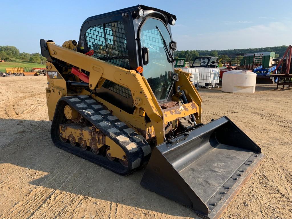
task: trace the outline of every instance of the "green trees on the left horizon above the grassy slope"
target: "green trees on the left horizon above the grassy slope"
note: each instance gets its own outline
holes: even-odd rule
[[[0,46],[0,58],[6,62],[13,61],[11,58],[21,59],[23,61],[30,61],[44,64],[47,60],[40,53],[20,53],[15,46]]]

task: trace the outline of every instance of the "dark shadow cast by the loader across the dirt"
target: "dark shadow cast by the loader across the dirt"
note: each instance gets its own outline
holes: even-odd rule
[[[163,203],[168,214],[198,218],[192,209],[143,188],[140,181],[145,167],[121,176],[59,149],[51,141],[50,121],[0,119],[0,124],[4,124],[0,138],[6,141],[0,144],[0,163],[47,173],[28,182],[32,185],[92,197],[93,203],[102,199],[160,213],[164,212]],[[5,140],[11,124],[20,125],[13,139]]]

